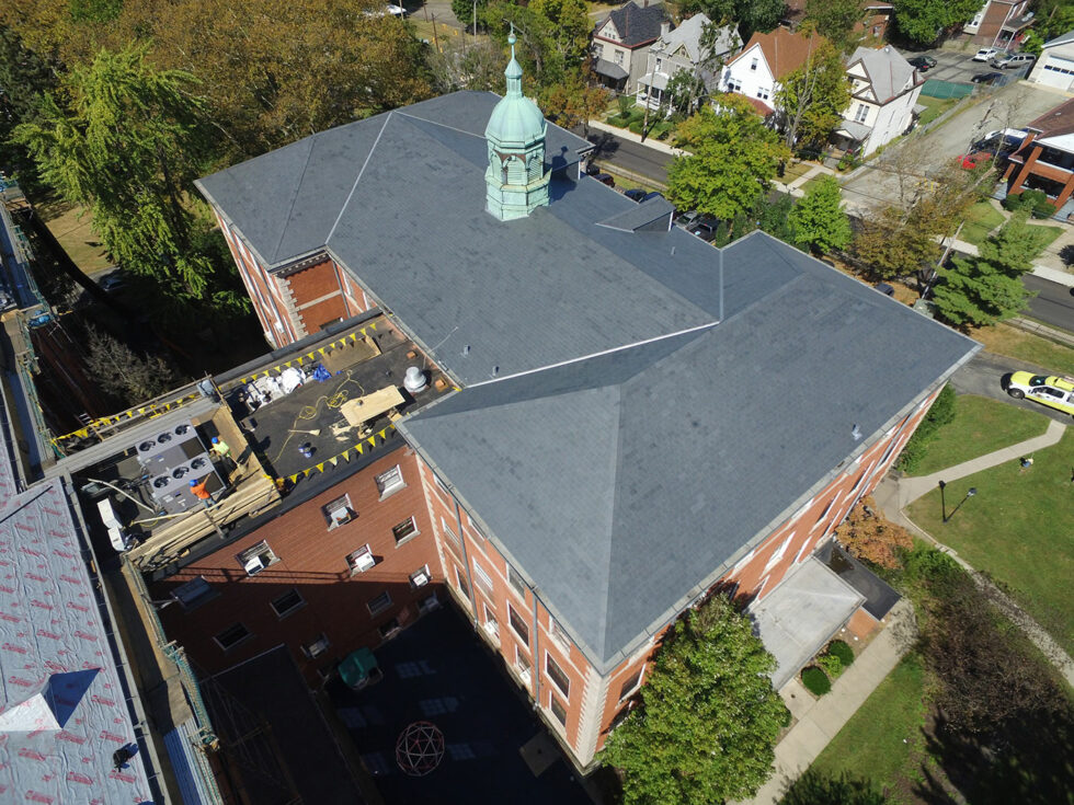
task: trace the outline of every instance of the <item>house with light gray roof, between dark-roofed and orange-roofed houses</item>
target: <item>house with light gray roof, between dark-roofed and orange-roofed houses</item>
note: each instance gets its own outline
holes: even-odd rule
[[[638,79],[638,105],[656,108],[665,103],[667,82],[679,70],[700,79],[706,90],[715,91],[720,82],[720,67],[742,47],[734,25],[725,25],[716,35],[715,45],[701,47],[701,34],[711,22],[705,14],[695,14],[673,31],[663,31],[649,48],[649,66]],[[715,70],[715,72],[713,72]]]

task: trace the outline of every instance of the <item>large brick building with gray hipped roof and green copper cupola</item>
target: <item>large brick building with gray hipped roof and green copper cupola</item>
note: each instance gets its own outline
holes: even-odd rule
[[[812,553],[979,345],[763,232],[715,249],[583,175],[590,145],[533,116],[514,64],[503,99],[433,99],[197,184],[259,314],[289,322],[274,343],[372,304],[454,383],[395,423],[434,577],[585,770],[715,588],[769,618],[808,589],[838,602],[809,634],[847,622],[860,597]]]

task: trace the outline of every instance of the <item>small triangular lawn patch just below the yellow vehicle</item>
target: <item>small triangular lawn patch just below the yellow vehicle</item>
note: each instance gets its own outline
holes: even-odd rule
[[[1008,445],[1040,436],[1048,417],[973,394],[958,398],[955,419],[944,425],[928,442],[913,475],[928,475],[947,467],[975,459]]]

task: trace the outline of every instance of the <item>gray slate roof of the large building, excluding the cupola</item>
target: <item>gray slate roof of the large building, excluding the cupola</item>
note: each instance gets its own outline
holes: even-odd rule
[[[653,231],[664,203],[578,179],[587,143],[551,124],[550,206],[496,220],[496,100],[455,93],[201,184],[276,265],[327,243],[468,387],[400,430],[607,668],[866,444],[853,425],[875,435],[975,345],[766,234],[721,251]]]

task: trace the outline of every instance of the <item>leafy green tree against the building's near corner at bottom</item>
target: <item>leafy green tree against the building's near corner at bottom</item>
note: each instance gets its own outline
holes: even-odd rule
[[[768,674],[775,659],[749,618],[713,596],[681,619],[656,654],[641,705],[602,760],[624,774],[624,802],[711,803],[752,796],[789,722]]]

